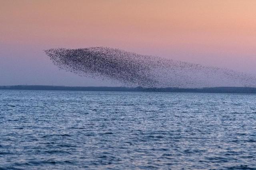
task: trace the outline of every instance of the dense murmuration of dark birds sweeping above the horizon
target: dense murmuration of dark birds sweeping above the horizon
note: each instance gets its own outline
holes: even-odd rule
[[[124,86],[256,87],[254,75],[108,47],[58,48],[45,50],[45,53],[60,69],[80,76],[112,80]]]

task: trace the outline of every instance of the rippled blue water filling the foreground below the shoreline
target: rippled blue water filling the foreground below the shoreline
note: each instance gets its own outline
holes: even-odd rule
[[[256,168],[256,95],[0,90],[0,169]]]

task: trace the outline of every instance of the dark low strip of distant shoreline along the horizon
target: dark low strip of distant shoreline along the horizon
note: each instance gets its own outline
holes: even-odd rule
[[[70,90],[70,91],[108,91],[108,92],[191,92],[191,93],[240,93],[256,94],[252,87],[212,87],[212,88],[142,88],[142,87],[82,87],[82,86],[43,86],[17,85],[0,86],[0,90]]]

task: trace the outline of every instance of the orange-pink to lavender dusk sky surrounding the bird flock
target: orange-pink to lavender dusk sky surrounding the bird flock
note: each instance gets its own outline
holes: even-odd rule
[[[0,0],[0,85],[118,86],[49,48],[112,47],[256,74],[255,0]]]

